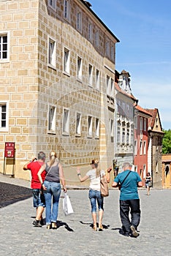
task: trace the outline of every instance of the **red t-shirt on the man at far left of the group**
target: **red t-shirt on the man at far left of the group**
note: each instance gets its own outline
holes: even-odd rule
[[[31,170],[31,189],[41,189],[42,184],[39,182],[39,178],[37,176],[37,173],[39,172],[40,167],[45,164],[45,162],[30,162],[27,165],[27,169]],[[46,171],[44,170],[41,174],[42,181],[45,180]]]

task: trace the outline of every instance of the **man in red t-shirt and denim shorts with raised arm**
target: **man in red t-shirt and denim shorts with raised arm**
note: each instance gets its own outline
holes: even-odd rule
[[[33,222],[34,227],[42,227],[42,214],[45,208],[45,197],[41,191],[42,184],[39,182],[37,173],[39,168],[45,163],[45,153],[40,151],[38,159],[33,158],[31,162],[23,166],[23,170],[31,170],[31,189],[33,192],[33,205],[37,208],[37,216]],[[42,172],[42,181],[45,180],[46,172]]]

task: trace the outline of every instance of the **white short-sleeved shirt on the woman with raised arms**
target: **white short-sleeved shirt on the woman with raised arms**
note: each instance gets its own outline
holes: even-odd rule
[[[100,176],[104,176],[104,170],[100,170]],[[90,178],[90,189],[100,191],[100,177],[96,177],[96,169],[88,170],[86,176]]]

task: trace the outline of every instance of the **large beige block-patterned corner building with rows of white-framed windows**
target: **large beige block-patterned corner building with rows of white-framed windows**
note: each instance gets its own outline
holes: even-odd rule
[[[38,151],[55,150],[67,184],[92,158],[114,156],[115,44],[83,0],[0,1],[0,171],[15,143],[15,176]],[[11,173],[12,162],[5,169]]]

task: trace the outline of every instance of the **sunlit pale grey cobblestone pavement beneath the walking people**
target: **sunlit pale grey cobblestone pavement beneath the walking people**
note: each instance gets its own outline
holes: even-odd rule
[[[5,178],[7,184],[28,187],[28,181]],[[1,186],[1,184],[0,184]],[[2,191],[3,192],[3,191]],[[33,227],[35,217],[32,198],[20,200],[0,208],[0,255],[75,255],[75,256],[170,256],[171,255],[171,190],[151,189],[145,195],[140,189],[142,219],[138,238],[121,236],[118,211],[118,189],[110,189],[104,198],[104,230],[94,232],[91,228],[91,211],[87,189],[68,190],[75,213],[67,217],[62,209],[61,194],[58,213],[58,229],[47,230],[46,226]]]

